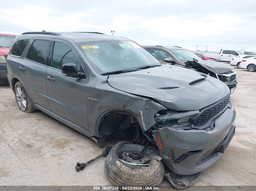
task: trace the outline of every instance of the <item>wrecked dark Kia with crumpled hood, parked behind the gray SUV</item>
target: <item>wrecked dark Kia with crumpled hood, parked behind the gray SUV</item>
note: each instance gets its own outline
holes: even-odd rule
[[[212,60],[203,60],[191,51],[179,46],[143,46],[150,53],[156,55],[158,59],[165,62],[164,59],[171,58],[167,61],[172,65],[177,65],[184,68],[194,69],[198,72],[208,74],[214,78],[224,82],[231,91],[231,94],[236,88],[236,72],[233,72],[234,67],[214,62]],[[195,62],[196,61],[196,62]]]

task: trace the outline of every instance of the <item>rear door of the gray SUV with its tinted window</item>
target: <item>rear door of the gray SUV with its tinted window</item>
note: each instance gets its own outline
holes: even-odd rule
[[[19,62],[18,77],[25,86],[32,102],[46,109],[49,108],[45,73],[51,38],[33,38],[25,58]]]

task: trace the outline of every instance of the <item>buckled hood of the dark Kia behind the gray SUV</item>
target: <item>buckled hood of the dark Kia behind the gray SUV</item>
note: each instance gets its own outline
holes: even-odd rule
[[[198,61],[198,63],[204,68],[210,70],[215,74],[222,74],[234,69],[234,67],[231,65],[221,63],[221,62],[216,62],[213,60],[204,60],[204,61],[200,60]]]

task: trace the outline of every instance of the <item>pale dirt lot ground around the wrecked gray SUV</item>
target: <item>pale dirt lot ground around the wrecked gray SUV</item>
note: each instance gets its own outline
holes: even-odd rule
[[[256,185],[256,72],[234,71],[234,138],[194,185]],[[0,84],[0,137],[0,185],[111,185],[103,169],[105,158],[75,171],[76,162],[85,162],[104,148],[41,111],[21,112],[6,82]],[[106,145],[118,141],[108,140]],[[164,179],[161,185],[170,184]]]

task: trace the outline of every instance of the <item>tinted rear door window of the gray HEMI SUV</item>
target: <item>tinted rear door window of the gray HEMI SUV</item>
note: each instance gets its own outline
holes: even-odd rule
[[[35,62],[46,64],[49,40],[35,40],[28,51],[28,59]]]

